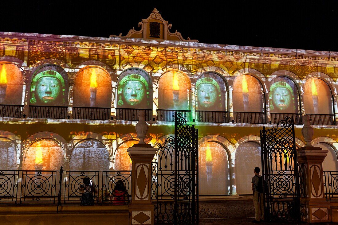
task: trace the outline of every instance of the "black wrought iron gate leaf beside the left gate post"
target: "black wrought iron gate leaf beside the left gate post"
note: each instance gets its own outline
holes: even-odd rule
[[[175,113],[175,136],[158,144],[152,199],[156,224],[198,223],[198,129]]]

